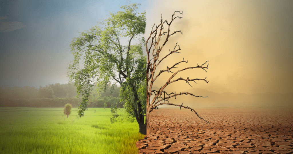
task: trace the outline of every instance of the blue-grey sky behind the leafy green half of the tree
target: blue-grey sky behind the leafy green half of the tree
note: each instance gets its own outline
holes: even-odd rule
[[[133,3],[140,1],[132,1]],[[67,83],[69,44],[127,1],[4,1],[1,10],[1,84]],[[146,4],[140,7],[145,10]]]

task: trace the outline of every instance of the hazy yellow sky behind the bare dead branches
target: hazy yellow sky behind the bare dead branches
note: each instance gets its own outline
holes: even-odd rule
[[[184,57],[187,64],[179,69],[209,62],[209,69],[192,69],[178,73],[178,77],[205,78],[209,83],[192,83],[194,88],[224,93],[293,92],[293,1],[153,1],[147,10],[148,38],[151,27],[163,20],[171,20],[174,11],[183,11],[170,31],[181,30],[183,35],[169,38],[164,51],[180,52],[169,56],[165,70]],[[167,31],[168,25],[165,25]],[[165,56],[164,53],[161,53]],[[174,69],[173,71],[175,71]],[[178,70],[178,69],[177,69]],[[164,73],[155,82],[161,87],[171,76]],[[184,81],[168,85],[166,90],[180,92],[190,89]]]

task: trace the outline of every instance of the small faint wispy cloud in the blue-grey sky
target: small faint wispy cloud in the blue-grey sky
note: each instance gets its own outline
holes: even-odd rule
[[[23,25],[21,22],[8,22],[4,21],[4,19],[7,19],[7,16],[0,16],[0,32],[11,32],[25,27],[25,25]]]

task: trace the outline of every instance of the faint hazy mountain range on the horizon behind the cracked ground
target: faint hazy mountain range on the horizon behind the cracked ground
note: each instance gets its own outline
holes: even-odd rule
[[[153,87],[153,90],[159,90]],[[168,91],[166,91],[168,92]],[[229,106],[262,106],[262,107],[293,107],[293,92],[287,94],[281,93],[260,93],[260,94],[243,94],[225,92],[218,94],[209,92],[205,89],[192,88],[182,92],[189,92],[195,96],[180,95],[169,99],[170,103],[184,104],[190,107],[229,107]],[[170,93],[170,92],[168,92]],[[176,94],[180,93],[176,91]],[[171,107],[171,106],[170,106]]]

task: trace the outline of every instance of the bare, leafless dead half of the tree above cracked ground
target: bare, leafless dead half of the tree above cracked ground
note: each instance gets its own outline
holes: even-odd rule
[[[171,79],[178,73],[178,72],[182,72],[182,71],[184,71],[184,70],[188,70],[188,69],[193,69],[193,68],[201,68],[201,69],[203,69],[203,70],[205,70],[205,69],[208,69],[207,67],[208,67],[208,65],[209,64],[207,64],[207,66],[206,67],[204,67],[204,65],[208,62],[208,61],[206,61],[204,64],[202,64],[201,66],[200,65],[198,65],[197,64],[197,66],[195,66],[195,67],[187,67],[187,68],[184,68],[184,69],[182,69],[182,70],[178,70],[178,71],[176,71],[176,72],[172,72],[171,71],[171,69],[173,69],[173,68],[177,68],[177,67],[175,67],[176,65],[178,65],[179,63],[181,63],[181,62],[186,62],[187,63],[187,61],[184,61],[184,58],[183,58],[183,60],[182,61],[180,61],[180,62],[177,62],[177,63],[175,63],[172,67],[168,67],[167,66],[167,69],[166,70],[160,70],[160,72],[158,73],[158,75],[156,75],[155,76],[155,72],[156,72],[156,67],[165,59],[165,58],[167,58],[169,55],[171,55],[171,54],[173,54],[173,53],[179,53],[178,51],[179,50],[181,50],[180,49],[180,46],[178,45],[178,48],[176,49],[176,47],[177,47],[177,43],[176,43],[176,45],[175,45],[175,48],[174,48],[174,50],[173,51],[170,51],[169,50],[169,52],[170,53],[168,53],[165,57],[163,57],[163,58],[161,58],[161,60],[159,60],[159,54],[160,54],[160,52],[161,52],[161,50],[163,49],[163,47],[164,47],[164,45],[166,45],[166,43],[167,43],[167,41],[168,41],[168,39],[169,39],[169,37],[171,37],[172,35],[174,35],[174,34],[176,34],[176,33],[178,33],[178,32],[180,32],[181,33],[181,31],[174,31],[173,33],[170,33],[170,25],[171,25],[171,23],[173,22],[173,20],[174,19],[176,19],[176,18],[182,18],[182,17],[179,17],[179,16],[176,16],[176,17],[173,17],[174,15],[175,15],[175,13],[176,12],[179,12],[179,11],[175,11],[174,12],[174,14],[172,15],[172,18],[171,18],[171,22],[170,23],[168,23],[168,21],[167,20],[165,20],[165,21],[163,21],[162,20],[162,18],[161,18],[161,23],[158,25],[158,26],[156,26],[156,29],[155,30],[153,30],[153,28],[154,28],[154,26],[153,26],[153,28],[151,29],[151,34],[149,35],[149,38],[147,39],[147,43],[146,43],[146,45],[147,45],[147,58],[148,58],[148,60],[147,60],[147,79],[146,79],[146,83],[147,83],[147,97],[146,97],[146,101],[147,101],[147,106],[146,106],[146,129],[147,129],[147,134],[149,134],[149,113],[153,110],[153,109],[158,109],[158,106],[159,105],[163,105],[163,104],[168,104],[168,105],[173,105],[173,106],[180,106],[180,109],[181,109],[181,107],[183,107],[183,108],[186,108],[186,109],[190,109],[191,111],[194,111],[195,112],[195,114],[198,116],[198,114],[197,114],[197,112],[194,110],[194,109],[192,109],[192,108],[190,108],[190,107],[188,107],[188,106],[183,106],[183,103],[181,104],[181,105],[178,105],[178,104],[172,104],[172,103],[169,103],[169,101],[168,101],[168,99],[170,99],[171,97],[175,97],[175,99],[176,99],[176,96],[178,96],[178,95],[183,95],[183,94],[185,94],[185,95],[191,95],[191,96],[194,96],[194,97],[202,97],[202,96],[195,96],[194,94],[191,94],[191,93],[189,93],[189,92],[180,92],[179,94],[177,93],[176,94],[176,92],[171,92],[170,94],[168,94],[167,92],[165,92],[164,91],[164,89],[169,85],[169,84],[171,84],[171,83],[173,83],[173,82],[177,82],[177,81],[179,81],[179,80],[183,80],[183,81],[185,81],[186,83],[188,83],[189,85],[190,85],[190,81],[193,81],[193,82],[195,82],[195,80],[203,80],[203,81],[205,81],[205,82],[207,82],[208,83],[208,81],[206,80],[206,78],[205,79],[198,79],[198,78],[196,78],[196,79],[189,79],[189,77],[187,77],[187,79],[183,79],[182,77],[179,77],[178,79],[175,79],[175,80],[173,80],[173,81],[171,81]],[[179,12],[180,13],[180,12]],[[180,14],[183,14],[183,12],[182,13],[180,13]],[[168,25],[168,32],[162,32],[162,30],[163,30],[163,25],[165,24],[165,23],[167,23],[167,25]],[[159,30],[158,30],[159,29]],[[152,36],[154,34],[154,36]],[[181,33],[182,34],[182,33]],[[166,36],[166,39],[164,40],[164,42],[163,42],[163,44],[161,45],[161,47],[159,46],[159,43],[160,43],[160,41],[161,41],[161,37],[162,37],[162,35],[165,35]],[[150,45],[150,47],[148,48],[148,42],[151,40],[151,45]],[[151,51],[151,49],[153,49],[152,51],[152,55],[153,55],[153,57],[154,58],[152,58],[151,60],[153,60],[153,62],[151,62],[151,60],[150,60],[150,51]],[[176,50],[175,50],[176,49]],[[205,70],[206,71],[206,70]],[[171,75],[171,77],[166,81],[166,83],[159,89],[159,90],[152,90],[152,86],[153,86],[153,84],[154,84],[154,81],[163,73],[163,72],[171,72],[171,73],[173,73],[172,75]],[[196,83],[196,82],[195,82]],[[190,85],[191,86],[191,85]],[[192,86],[191,86],[192,87]],[[154,94],[154,98],[152,99],[152,100],[150,100],[150,97],[152,96]],[[163,95],[163,97],[162,97],[162,95]],[[157,100],[157,101],[156,101]],[[162,102],[163,101],[163,102]],[[168,103],[165,103],[165,101],[167,101]],[[199,116],[198,116],[199,117]],[[201,118],[201,117],[200,117]],[[201,118],[202,119],[202,118]],[[207,122],[207,121],[206,121]]]

